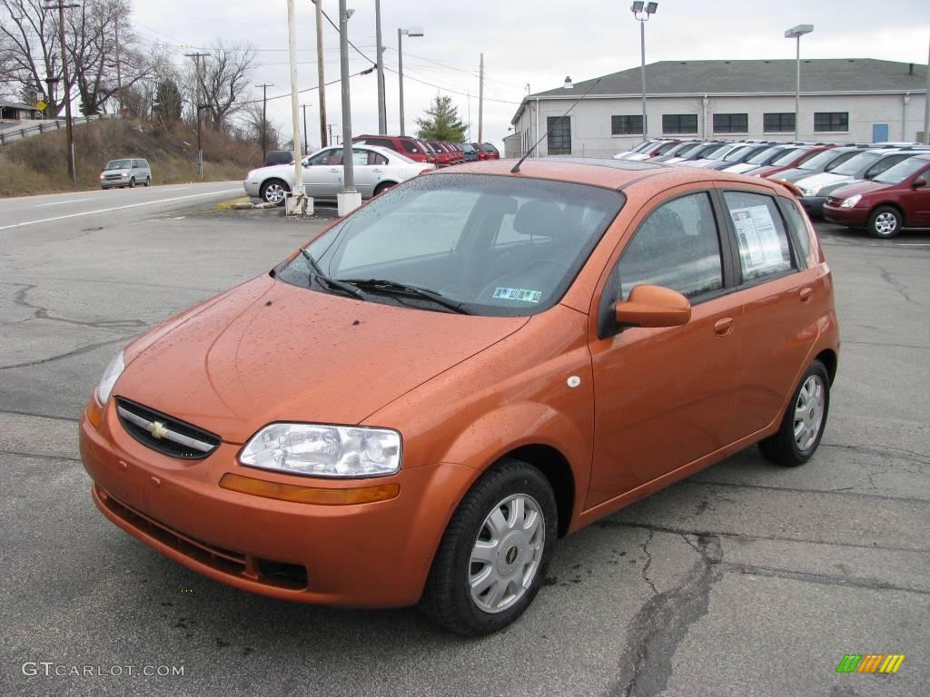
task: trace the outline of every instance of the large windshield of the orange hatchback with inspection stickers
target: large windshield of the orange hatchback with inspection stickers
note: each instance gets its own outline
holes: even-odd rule
[[[381,289],[428,289],[472,314],[532,315],[565,294],[625,200],[619,191],[547,179],[436,174],[385,192],[306,251],[329,278],[358,283],[366,301],[444,309],[372,290],[379,280]],[[276,273],[311,286],[303,255]],[[322,283],[312,290],[335,292]]]

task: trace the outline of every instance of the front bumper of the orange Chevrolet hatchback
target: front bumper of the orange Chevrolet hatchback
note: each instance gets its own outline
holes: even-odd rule
[[[100,428],[84,414],[80,450],[92,496],[117,526],[216,581],[272,598],[386,608],[415,604],[432,557],[475,470],[451,464],[377,480],[318,480],[238,464],[223,442],[204,460],[133,440],[111,400]],[[219,488],[223,474],[319,487],[396,482],[396,498],[349,506],[278,501]]]

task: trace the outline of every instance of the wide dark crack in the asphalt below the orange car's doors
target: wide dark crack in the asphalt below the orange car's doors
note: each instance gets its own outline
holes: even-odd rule
[[[682,537],[697,552],[697,563],[679,585],[653,595],[636,613],[611,697],[656,697],[666,690],[678,645],[710,609],[711,585],[724,575],[720,539],[703,533]]]

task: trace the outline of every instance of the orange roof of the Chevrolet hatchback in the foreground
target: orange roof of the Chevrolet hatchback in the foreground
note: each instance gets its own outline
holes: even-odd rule
[[[771,191],[787,192],[784,187],[766,179],[745,177],[719,170],[676,167],[670,164],[650,163],[636,160],[574,159],[574,158],[528,158],[520,165],[520,171],[512,173],[516,160],[484,160],[458,164],[455,173],[503,175],[507,177],[554,179],[576,184],[588,184],[608,189],[626,190],[632,185],[664,191],[680,184],[700,181],[732,181],[754,184]],[[445,170],[432,172],[428,177],[447,174]]]

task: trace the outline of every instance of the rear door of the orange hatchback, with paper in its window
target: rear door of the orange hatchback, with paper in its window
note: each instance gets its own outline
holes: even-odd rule
[[[736,242],[734,299],[742,309],[743,362],[727,431],[738,441],[780,419],[832,291],[818,265],[809,268],[808,230],[793,200],[761,187],[718,186]]]

